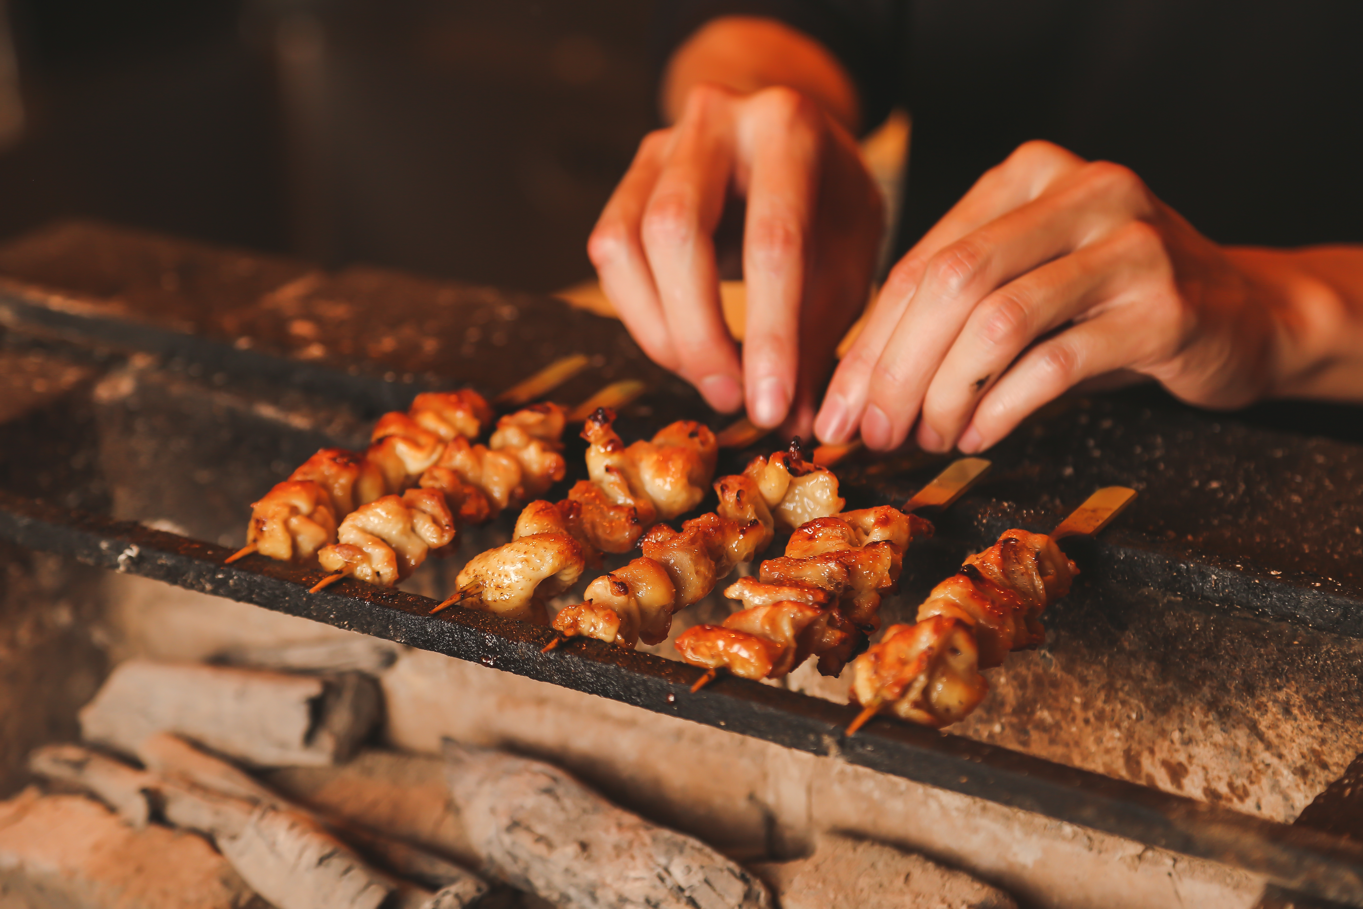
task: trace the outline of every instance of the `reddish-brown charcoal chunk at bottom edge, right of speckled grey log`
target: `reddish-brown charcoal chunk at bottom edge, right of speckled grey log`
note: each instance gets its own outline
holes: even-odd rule
[[[752,869],[781,909],[1017,909],[1013,897],[920,854],[823,834],[812,856]]]

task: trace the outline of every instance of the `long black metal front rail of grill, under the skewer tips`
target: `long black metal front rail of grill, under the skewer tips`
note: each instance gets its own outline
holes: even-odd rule
[[[469,611],[428,615],[433,600],[345,581],[309,594],[320,572],[139,523],[0,492],[0,538],[112,571],[572,688],[653,713],[958,792],[1198,859],[1265,875],[1278,887],[1363,906],[1363,844],[1254,818],[880,717],[853,737],[856,709],[736,677],[690,691],[694,666],[572,639],[549,653],[547,628]]]

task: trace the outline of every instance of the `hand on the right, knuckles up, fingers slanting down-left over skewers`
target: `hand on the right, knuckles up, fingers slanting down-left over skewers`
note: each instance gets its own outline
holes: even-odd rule
[[[1249,189],[1247,189],[1249,191]],[[994,168],[890,273],[815,421],[874,450],[917,424],[973,452],[1086,380],[1148,376],[1209,407],[1283,368],[1266,249],[1223,248],[1131,170],[1045,142]]]

